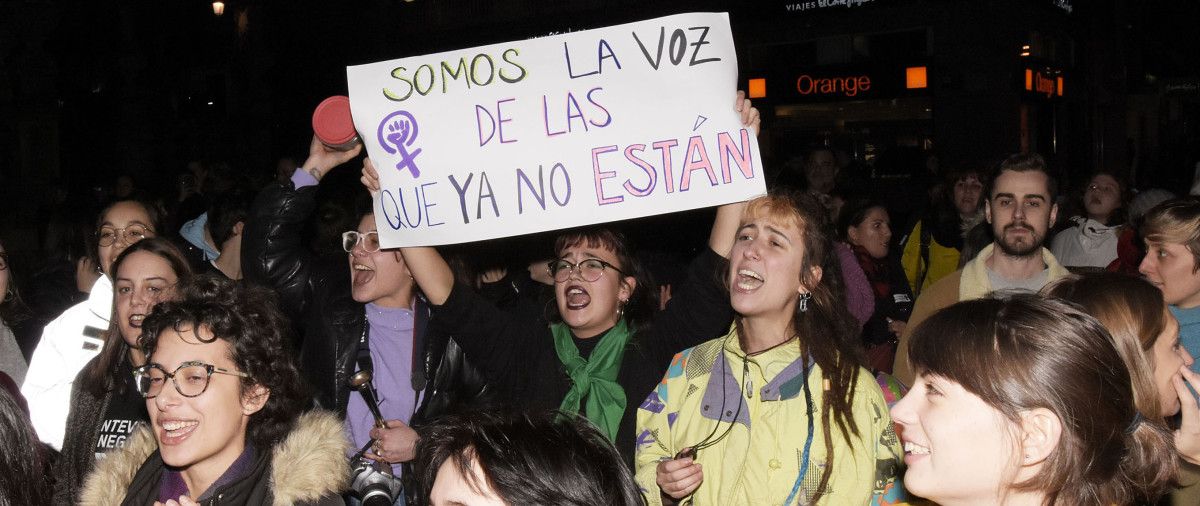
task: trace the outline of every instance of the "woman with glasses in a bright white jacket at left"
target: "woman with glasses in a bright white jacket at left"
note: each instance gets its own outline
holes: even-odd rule
[[[112,267],[125,248],[162,230],[162,215],[151,204],[118,200],[100,212],[89,243],[89,258],[101,276],[88,300],[46,325],[29,361],[20,393],[43,441],[61,448],[76,374],[104,347],[103,332],[113,312]]]

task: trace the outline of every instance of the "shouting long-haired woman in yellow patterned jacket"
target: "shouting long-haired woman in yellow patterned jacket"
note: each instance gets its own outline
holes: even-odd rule
[[[830,285],[822,212],[805,195],[748,205],[730,255],[733,329],[677,355],[638,408],[652,505],[901,500],[899,440]]]

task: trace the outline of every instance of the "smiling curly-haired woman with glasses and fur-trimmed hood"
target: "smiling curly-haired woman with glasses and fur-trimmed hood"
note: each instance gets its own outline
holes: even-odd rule
[[[83,504],[337,505],[342,423],[311,404],[275,294],[198,276],[146,317],[134,369],[150,426],[96,464]]]

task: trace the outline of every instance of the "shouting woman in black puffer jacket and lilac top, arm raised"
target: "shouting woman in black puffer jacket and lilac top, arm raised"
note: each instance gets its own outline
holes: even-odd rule
[[[356,203],[353,234],[342,236],[347,253],[325,255],[305,247],[305,224],[320,212],[320,181],[359,151],[361,145],[337,151],[313,137],[304,168],[290,181],[263,188],[242,230],[242,273],[280,295],[299,331],[295,350],[317,403],[344,418],[355,448],[371,450],[362,457],[407,480],[414,428],[486,404],[492,390],[455,341],[427,324],[428,305],[400,252],[379,249],[370,199]],[[319,228],[328,234],[338,219],[323,222]],[[366,398],[350,387],[358,372],[372,374],[384,427],[377,427]]]

